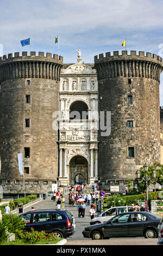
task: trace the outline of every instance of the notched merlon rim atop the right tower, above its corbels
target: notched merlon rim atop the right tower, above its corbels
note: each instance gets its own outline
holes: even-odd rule
[[[111,55],[111,52],[106,52],[105,56],[104,53],[101,53],[99,55],[95,56],[95,64],[99,62],[104,62],[106,60],[147,60],[156,62],[160,65],[162,65],[162,58],[156,54],[152,54],[151,52],[141,52],[139,51],[139,54],[136,54],[136,51],[130,51],[130,54],[127,51],[122,51],[122,54],[119,53],[119,51],[114,51]]]

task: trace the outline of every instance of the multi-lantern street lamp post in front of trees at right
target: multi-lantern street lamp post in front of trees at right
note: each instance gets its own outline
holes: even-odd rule
[[[145,163],[145,165],[143,166],[143,170],[145,171],[146,175],[142,178],[142,180],[140,181],[140,171],[136,170],[136,178],[138,179],[138,182],[141,183],[143,181],[146,182],[146,198],[147,198],[147,202],[148,202],[148,181],[150,180],[153,184],[154,184],[154,191],[155,191],[155,184],[156,184],[156,171],[153,169],[152,170],[152,177],[153,180],[151,180],[151,178],[149,176],[147,176],[147,172],[148,172],[148,166]]]

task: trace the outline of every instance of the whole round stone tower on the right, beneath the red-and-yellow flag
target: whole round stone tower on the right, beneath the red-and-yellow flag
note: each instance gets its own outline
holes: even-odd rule
[[[151,53],[116,51],[113,56],[95,56],[95,67],[99,113],[111,114],[110,135],[99,131],[100,179],[135,179],[136,169],[160,161],[162,59]]]

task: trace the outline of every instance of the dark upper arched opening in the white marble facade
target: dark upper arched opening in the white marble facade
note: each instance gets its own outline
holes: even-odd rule
[[[88,119],[88,106],[83,101],[75,101],[70,106],[70,120]]]

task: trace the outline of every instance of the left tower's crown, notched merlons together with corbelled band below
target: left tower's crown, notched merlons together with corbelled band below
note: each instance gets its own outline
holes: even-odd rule
[[[60,80],[60,70],[63,65],[63,58],[57,54],[39,52],[9,53],[0,58],[0,82],[12,78],[48,78]]]

